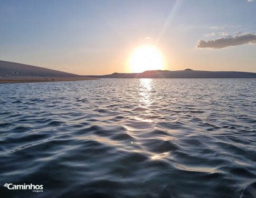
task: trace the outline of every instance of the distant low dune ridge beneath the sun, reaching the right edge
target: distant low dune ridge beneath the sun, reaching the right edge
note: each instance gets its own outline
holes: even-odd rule
[[[185,69],[182,71],[158,71],[122,74],[113,73],[110,75],[90,76],[93,78],[256,78],[256,73],[241,71],[194,71]]]

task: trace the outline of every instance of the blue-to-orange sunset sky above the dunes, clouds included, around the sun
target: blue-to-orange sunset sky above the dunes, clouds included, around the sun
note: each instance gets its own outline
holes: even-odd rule
[[[165,70],[256,72],[254,0],[1,0],[0,60],[80,75],[131,72],[140,46]]]

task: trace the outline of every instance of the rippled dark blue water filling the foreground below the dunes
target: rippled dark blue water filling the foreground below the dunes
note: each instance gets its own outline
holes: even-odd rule
[[[256,197],[256,79],[0,89],[0,197]]]

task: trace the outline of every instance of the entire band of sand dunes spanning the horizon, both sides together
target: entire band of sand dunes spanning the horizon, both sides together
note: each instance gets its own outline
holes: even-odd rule
[[[113,73],[80,76],[68,72],[0,60],[0,83],[93,80],[97,78],[256,78],[256,73],[241,71],[149,70],[142,73]]]

